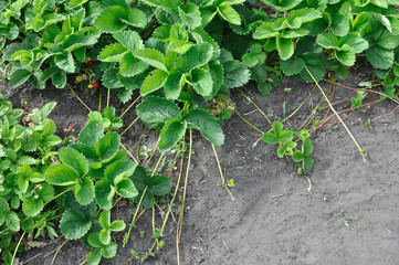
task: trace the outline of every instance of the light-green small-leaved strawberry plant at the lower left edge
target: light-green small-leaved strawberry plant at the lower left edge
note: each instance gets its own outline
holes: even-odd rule
[[[15,248],[13,235],[20,230],[57,236],[51,222],[42,222],[43,216],[51,218],[43,209],[55,195],[43,171],[54,161],[55,147],[61,144],[54,121],[48,118],[54,107],[55,103],[50,103],[25,113],[0,98],[0,245],[8,264]]]

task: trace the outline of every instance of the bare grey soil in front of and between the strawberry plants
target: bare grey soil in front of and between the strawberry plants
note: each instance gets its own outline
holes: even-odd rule
[[[359,74],[340,83],[357,87],[363,81],[368,78]],[[328,83],[321,84],[328,91]],[[313,88],[313,84],[291,81],[286,86],[292,88],[290,94],[284,95],[282,87],[266,97],[261,97],[251,84],[242,87],[242,91],[270,119],[276,120],[283,118],[283,100],[287,116]],[[1,85],[1,89],[4,97],[15,106],[22,99],[28,100],[29,108],[41,107],[52,100],[59,102],[51,118],[56,121],[60,131],[70,125],[78,131],[85,124],[88,112],[69,89],[38,91],[28,86],[11,89],[4,85]],[[97,108],[98,97],[82,93],[78,95],[91,108]],[[356,92],[337,86],[334,97],[337,110],[349,108],[353,96],[356,96]],[[263,131],[271,128],[262,114],[239,93],[233,98],[238,104],[238,112],[254,126]],[[378,98],[370,95],[366,102]],[[311,99],[285,126],[300,127],[305,121],[322,99],[317,88]],[[112,104],[119,109],[126,107],[119,106],[114,98]],[[326,114],[326,103],[322,106],[325,108],[316,113],[317,119]],[[232,201],[227,190],[218,187],[221,180],[211,145],[199,134],[195,134],[195,153],[180,243],[181,264],[399,264],[398,116],[393,113],[371,123],[371,130],[365,126],[367,119],[372,120],[395,107],[396,104],[387,99],[345,120],[360,146],[368,150],[367,163],[364,163],[343,126],[333,125],[313,132],[311,139],[315,163],[307,176],[312,181],[311,191],[308,181],[296,174],[297,163],[279,159],[275,147],[262,141],[253,148],[253,142],[261,135],[233,115],[222,126],[225,144],[217,147],[224,177],[234,179],[235,187],[231,191],[235,201]],[[349,113],[342,114],[342,117],[345,118],[347,114]],[[135,118],[134,112],[129,112],[125,118],[127,126]],[[333,117],[330,123],[335,121],[337,119]],[[133,147],[143,130],[144,125],[137,123],[125,135],[124,145]],[[147,132],[141,147],[153,148],[156,140],[154,131]],[[140,159],[145,161],[143,156]],[[156,159],[150,163],[153,167],[155,161]],[[167,173],[166,171],[165,167],[162,172]],[[178,170],[172,173],[174,181],[177,176]],[[175,219],[179,205],[177,200]],[[134,208],[119,205],[113,212],[113,219],[129,222],[133,212]],[[158,213],[156,220],[156,225],[159,226],[161,218]],[[177,264],[176,222],[172,218],[169,220],[165,230],[165,247],[145,264]],[[144,239],[140,239],[140,231],[145,231]],[[134,248],[139,254],[146,253],[153,244],[150,235],[151,211],[146,211],[137,222],[137,229],[133,230],[128,245],[119,247],[115,258],[103,259],[102,264],[138,264],[132,257],[130,250]],[[116,236],[118,243],[122,242],[122,236],[123,233]],[[51,264],[53,254],[48,257],[44,255],[63,242],[64,239],[60,239],[44,247],[33,248],[20,255],[19,261],[23,264]],[[54,264],[78,265],[88,251],[78,241],[67,242],[59,252]]]

